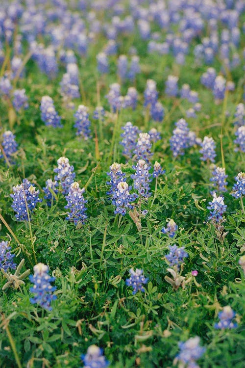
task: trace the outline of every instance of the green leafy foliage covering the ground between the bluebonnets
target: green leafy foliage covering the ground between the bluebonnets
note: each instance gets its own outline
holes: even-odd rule
[[[103,38],[102,38],[103,37]],[[79,59],[79,70],[90,113],[98,104],[95,75],[95,56],[100,51],[100,42],[91,46],[88,57]],[[125,39],[124,39],[125,38]],[[125,41],[125,42],[124,42]],[[195,41],[196,42],[196,41]],[[0,367],[17,367],[9,334],[23,367],[79,367],[80,354],[95,343],[104,348],[113,368],[172,367],[178,353],[178,342],[198,335],[207,351],[200,360],[202,368],[244,367],[244,301],[245,278],[239,266],[239,258],[245,251],[245,214],[241,204],[230,196],[234,176],[243,169],[241,153],[234,152],[234,129],[232,116],[241,100],[241,88],[228,95],[227,109],[231,117],[225,117],[223,151],[228,174],[228,192],[224,194],[227,205],[226,221],[222,235],[207,221],[207,203],[210,195],[211,169],[200,161],[198,147],[187,150],[180,158],[173,158],[169,148],[174,122],[183,117],[189,105],[164,96],[164,81],[172,70],[179,72],[173,57],[147,54],[146,43],[138,34],[134,40],[123,36],[119,54],[128,53],[128,47],[138,49],[143,72],[137,77],[136,86],[140,101],[135,111],[122,110],[117,121],[115,145],[112,146],[116,129],[116,114],[107,114],[99,133],[98,123],[92,119],[93,138],[80,140],[73,128],[73,112],[61,103],[58,83],[64,70],[50,81],[29,60],[26,64],[28,78],[18,81],[18,88],[25,88],[29,97],[29,108],[18,114],[13,131],[19,144],[16,163],[0,163],[0,214],[7,227],[0,225],[0,241],[9,240],[15,262],[25,259],[22,272],[31,269],[37,262],[49,265],[50,274],[56,277],[52,311],[32,305],[30,281],[20,289],[5,289],[6,279],[0,274]],[[242,49],[240,50],[242,54]],[[110,83],[117,80],[116,58],[111,59],[111,73],[100,79],[101,105],[109,106],[105,95]],[[222,60],[215,65],[222,66]],[[218,67],[217,67],[218,69]],[[194,56],[187,55],[181,67],[179,85],[190,83],[199,94],[202,110],[188,124],[200,138],[212,135],[217,142],[217,165],[221,166],[221,120],[223,106],[214,105],[213,96],[200,83],[206,66],[196,65]],[[242,83],[243,70],[234,71],[236,85]],[[147,79],[154,79],[159,90],[159,100],[165,108],[164,122],[151,120],[144,123],[143,93]],[[123,85],[123,93],[130,83]],[[62,115],[62,129],[44,126],[40,117],[41,97],[48,94],[54,99]],[[75,107],[81,103],[75,101]],[[175,107],[174,107],[175,106]],[[3,131],[9,129],[8,106],[0,102],[0,124]],[[132,162],[126,162],[119,144],[121,127],[132,121],[143,131],[155,127],[162,140],[154,146],[154,160],[158,160],[166,173],[151,183],[152,196],[143,201],[142,229],[137,227],[127,213],[123,218],[114,214],[114,206],[106,194],[106,173],[114,161],[123,163],[127,182],[132,184],[134,173]],[[98,134],[99,158],[96,156]],[[27,178],[42,192],[57,159],[66,156],[74,166],[76,180],[86,188],[88,221],[75,227],[66,218],[66,200],[58,193],[57,201],[49,208],[45,202],[38,205],[31,221],[18,223],[11,208],[13,185]],[[152,172],[152,170],[151,170]],[[42,192],[41,197],[44,197]],[[154,200],[153,200],[154,198]],[[174,238],[161,233],[167,219],[173,218],[179,229]],[[11,237],[11,239],[9,239]],[[182,275],[198,275],[174,290],[166,282],[169,275],[165,256],[169,245],[185,246],[189,254]],[[143,268],[149,278],[146,292],[132,294],[125,286],[129,269]],[[234,330],[214,329],[218,313],[223,306],[230,305],[236,311],[238,327]],[[9,332],[9,334],[7,333]]]

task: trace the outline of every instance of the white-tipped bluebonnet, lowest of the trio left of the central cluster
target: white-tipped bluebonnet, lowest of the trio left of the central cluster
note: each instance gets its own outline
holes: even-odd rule
[[[85,203],[87,201],[84,199],[83,193],[85,192],[85,188],[80,188],[77,182],[74,182],[69,189],[69,193],[66,196],[67,206],[65,209],[70,210],[67,220],[74,222],[75,225],[78,223],[84,224],[86,218],[87,208],[85,207]]]

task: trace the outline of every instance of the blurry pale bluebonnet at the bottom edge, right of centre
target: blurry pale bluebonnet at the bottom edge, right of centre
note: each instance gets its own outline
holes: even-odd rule
[[[198,336],[190,338],[186,342],[179,342],[180,352],[175,357],[176,362],[182,364],[185,368],[199,368],[196,360],[199,359],[206,351],[206,348],[199,345],[200,338]]]

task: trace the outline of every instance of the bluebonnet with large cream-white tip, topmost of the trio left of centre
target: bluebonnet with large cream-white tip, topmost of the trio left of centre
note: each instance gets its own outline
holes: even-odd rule
[[[62,188],[62,194],[68,194],[71,184],[74,183],[75,173],[74,167],[70,165],[69,159],[66,157],[60,157],[57,160],[58,167],[53,169],[57,174],[54,180],[60,183]]]

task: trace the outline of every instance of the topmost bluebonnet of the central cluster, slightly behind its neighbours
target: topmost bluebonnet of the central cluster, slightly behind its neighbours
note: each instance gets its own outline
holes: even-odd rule
[[[123,155],[128,158],[132,158],[132,152],[135,150],[137,145],[137,136],[140,132],[139,128],[134,126],[130,121],[128,121],[122,128],[123,133],[121,137],[123,138],[120,144],[123,146]]]

